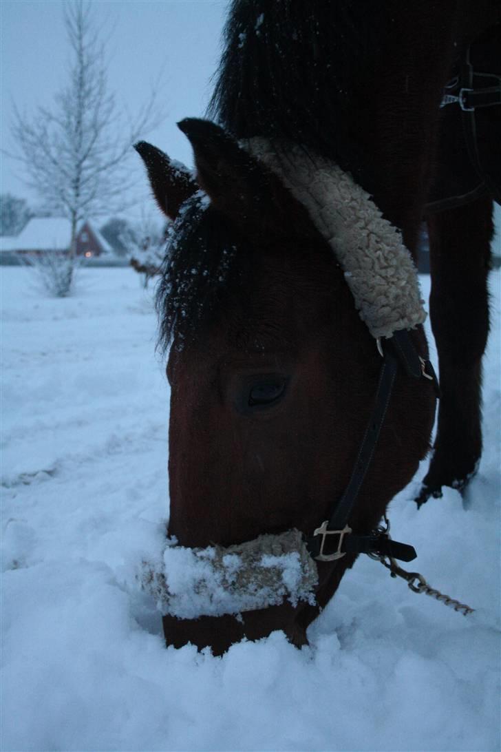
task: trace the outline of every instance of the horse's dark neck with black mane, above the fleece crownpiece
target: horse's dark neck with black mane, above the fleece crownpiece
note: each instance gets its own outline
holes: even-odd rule
[[[451,16],[445,2],[234,2],[210,113],[237,138],[285,138],[336,162],[414,253],[442,89],[467,33]]]

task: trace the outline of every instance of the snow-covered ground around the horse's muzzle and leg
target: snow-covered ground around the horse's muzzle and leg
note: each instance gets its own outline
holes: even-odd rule
[[[87,269],[69,299],[2,268],[2,748],[498,750],[499,271],[485,451],[467,498],[391,504],[454,613],[361,556],[297,650],[166,649],[134,587],[168,512],[168,384],[151,295]],[[429,280],[422,280],[427,295]]]

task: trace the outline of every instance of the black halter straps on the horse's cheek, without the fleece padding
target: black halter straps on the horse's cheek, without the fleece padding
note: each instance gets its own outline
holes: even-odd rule
[[[374,553],[406,562],[412,561],[416,556],[412,546],[392,541],[382,532],[355,535],[348,526],[349,517],[355,508],[364,478],[373,459],[399,365],[411,378],[416,380],[426,378],[433,381],[437,396],[439,395],[439,385],[433,365],[418,354],[409,337],[409,332],[394,332],[391,338],[378,340],[378,350],[383,360],[379,371],[376,401],[349,484],[333,510],[330,520],[325,520],[315,530],[312,537],[306,539],[306,547],[317,561],[336,561],[346,553]]]

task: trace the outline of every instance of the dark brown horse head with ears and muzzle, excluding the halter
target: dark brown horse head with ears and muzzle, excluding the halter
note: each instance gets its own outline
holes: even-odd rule
[[[168,535],[228,547],[297,529],[311,535],[349,483],[381,357],[337,254],[276,171],[222,129],[184,120],[196,180],[139,144],[161,209],[175,220],[158,291],[171,384]],[[343,249],[340,249],[342,251]],[[410,332],[421,353],[421,327]],[[429,448],[432,390],[397,374],[349,519],[369,532]],[[355,561],[317,562],[315,602],[243,614],[164,616],[168,644],[226,650],[283,629],[294,644]]]

